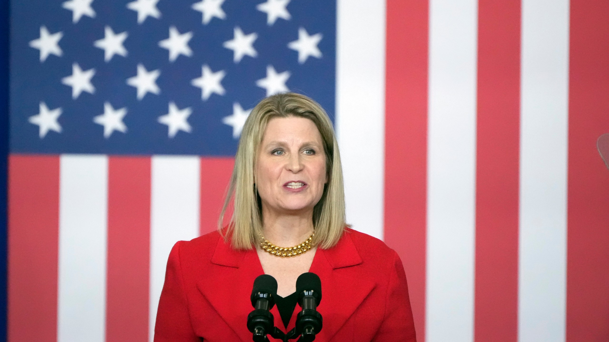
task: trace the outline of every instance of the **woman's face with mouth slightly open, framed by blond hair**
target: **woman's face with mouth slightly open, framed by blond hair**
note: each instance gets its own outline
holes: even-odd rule
[[[255,179],[264,209],[284,214],[312,210],[328,181],[315,124],[303,117],[271,119],[258,150]]]

